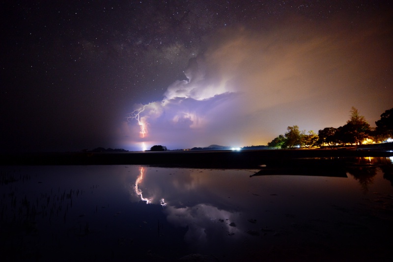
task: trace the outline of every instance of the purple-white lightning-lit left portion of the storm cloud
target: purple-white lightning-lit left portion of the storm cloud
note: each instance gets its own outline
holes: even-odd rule
[[[138,123],[138,141],[163,141],[174,144],[179,139],[208,135],[220,107],[234,101],[234,88],[225,79],[213,79],[206,73],[205,59],[193,58],[185,71],[188,80],[171,84],[163,101],[136,105],[129,114],[130,124]],[[180,145],[179,145],[180,146]]]

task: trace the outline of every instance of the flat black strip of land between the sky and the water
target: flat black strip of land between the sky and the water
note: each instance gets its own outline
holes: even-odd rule
[[[337,149],[166,151],[120,153],[20,153],[0,155],[0,165],[118,165],[137,164],[194,168],[259,168],[261,165],[318,165],[326,158],[392,157],[393,143]],[[339,163],[338,161],[337,163]],[[330,165],[330,163],[329,163]]]

